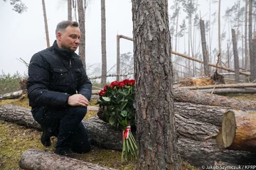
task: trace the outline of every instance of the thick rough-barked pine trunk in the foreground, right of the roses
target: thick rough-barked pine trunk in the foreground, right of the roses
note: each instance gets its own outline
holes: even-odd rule
[[[132,0],[137,169],[181,169],[167,0]]]

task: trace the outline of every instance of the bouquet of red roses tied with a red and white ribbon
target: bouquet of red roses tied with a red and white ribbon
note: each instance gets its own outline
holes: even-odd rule
[[[100,91],[100,107],[105,107],[104,118],[122,130],[122,161],[137,159],[137,144],[131,132],[135,125],[134,79],[112,81]]]

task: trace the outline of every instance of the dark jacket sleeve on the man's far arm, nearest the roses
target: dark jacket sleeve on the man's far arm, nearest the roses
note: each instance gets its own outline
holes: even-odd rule
[[[90,98],[92,97],[92,83],[88,79],[85,68],[81,67],[81,77],[80,82],[78,83],[78,94],[82,94],[82,96],[85,96],[88,101],[90,101]]]

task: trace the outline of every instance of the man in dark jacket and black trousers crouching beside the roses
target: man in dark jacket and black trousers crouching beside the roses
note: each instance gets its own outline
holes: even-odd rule
[[[58,138],[55,153],[70,156],[89,152],[91,143],[81,120],[87,113],[92,84],[80,57],[78,23],[62,21],[55,30],[52,47],[36,53],[28,67],[28,98],[33,118],[41,125],[41,142],[51,145]]]

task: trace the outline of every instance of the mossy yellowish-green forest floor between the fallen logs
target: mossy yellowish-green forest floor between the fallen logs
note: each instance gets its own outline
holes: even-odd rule
[[[96,106],[97,101],[91,101],[92,106]],[[21,106],[29,108],[28,98],[23,96],[19,99],[0,101],[0,106],[10,104],[14,106]],[[97,112],[89,111],[85,119],[96,115]],[[39,130],[26,128],[25,126],[16,125],[15,123],[8,123],[0,120],[0,167],[4,170],[20,169],[18,162],[21,154],[26,149],[41,149],[46,152],[54,151],[54,144],[56,137],[51,137],[52,146],[43,147],[40,142],[41,132]],[[136,162],[121,162],[121,152],[109,149],[102,149],[92,146],[90,152],[86,154],[77,154],[75,158],[93,164],[100,164],[102,166],[111,167],[114,169],[135,169]],[[186,162],[181,162],[182,169],[196,170],[194,166]]]

